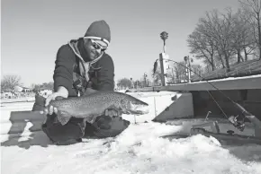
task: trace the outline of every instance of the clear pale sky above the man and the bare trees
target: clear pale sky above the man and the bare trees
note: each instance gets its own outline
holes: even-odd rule
[[[206,11],[237,9],[238,0],[2,0],[1,77],[21,76],[24,86],[52,82],[58,48],[84,36],[89,25],[106,21],[111,28],[107,53],[115,82],[139,80],[163,51],[159,34],[168,32],[166,53],[175,61],[191,56],[186,39]]]

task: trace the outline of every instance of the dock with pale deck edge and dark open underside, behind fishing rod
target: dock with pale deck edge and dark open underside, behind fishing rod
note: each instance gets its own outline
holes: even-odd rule
[[[261,119],[261,75],[231,77],[211,81],[211,84],[204,81],[179,83],[169,86],[148,87],[139,89],[139,91],[176,91],[180,93],[179,98],[173,100],[171,105],[166,106],[166,109],[155,117],[155,120],[166,121],[166,119],[177,117],[191,117],[187,114],[188,110],[193,110],[191,112],[193,117],[205,117],[209,111],[211,111],[210,117],[220,117],[222,112],[211,96],[228,115],[237,114],[238,110],[223,94]],[[181,110],[184,110],[184,113]]]

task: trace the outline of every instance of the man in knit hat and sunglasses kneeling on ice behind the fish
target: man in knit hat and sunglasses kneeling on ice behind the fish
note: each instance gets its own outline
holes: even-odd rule
[[[111,30],[104,21],[91,23],[85,36],[72,39],[58,49],[55,70],[53,74],[54,92],[46,99],[88,95],[95,91],[113,91],[114,65],[112,57],[105,53],[111,41]],[[32,110],[40,110],[37,101]],[[83,124],[83,118],[71,117],[62,126],[57,120],[56,108],[45,109],[46,123],[42,125],[43,132],[55,144],[77,142],[83,136],[109,137],[121,134],[130,122],[121,118],[117,109],[106,109],[104,116],[97,117],[94,124]]]

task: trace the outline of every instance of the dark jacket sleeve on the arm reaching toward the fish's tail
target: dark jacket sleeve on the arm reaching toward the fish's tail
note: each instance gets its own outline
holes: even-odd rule
[[[58,90],[58,86],[64,86],[69,93],[72,90],[74,61],[69,51],[66,45],[58,49],[53,74],[54,91]]]

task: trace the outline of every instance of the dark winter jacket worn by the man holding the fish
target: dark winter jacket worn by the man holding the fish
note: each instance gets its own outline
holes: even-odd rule
[[[53,74],[54,91],[58,86],[64,86],[68,96],[77,96],[85,88],[97,91],[113,91],[114,65],[112,57],[103,53],[103,56],[93,62],[85,62],[86,57],[80,54],[80,43],[71,40],[58,49]],[[82,52],[82,51],[81,51]]]

